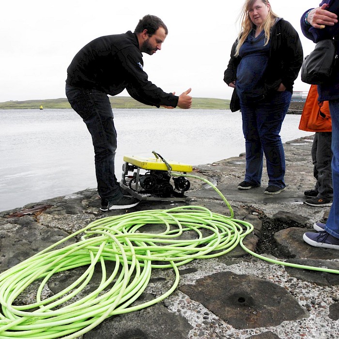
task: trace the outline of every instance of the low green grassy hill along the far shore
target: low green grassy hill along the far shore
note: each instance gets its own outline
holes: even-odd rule
[[[139,103],[129,96],[109,97],[112,108],[154,108]],[[71,108],[66,98],[59,99],[42,99],[42,100],[26,100],[26,101],[6,101],[0,103],[0,109],[38,109],[43,108]],[[230,100],[215,98],[193,98],[192,108],[205,109],[229,109]]]

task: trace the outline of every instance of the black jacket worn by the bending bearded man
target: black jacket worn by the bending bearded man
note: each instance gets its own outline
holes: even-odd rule
[[[138,37],[128,31],[102,36],[81,48],[67,69],[66,84],[116,95],[125,88],[139,102],[176,107],[178,96],[166,93],[143,71]]]

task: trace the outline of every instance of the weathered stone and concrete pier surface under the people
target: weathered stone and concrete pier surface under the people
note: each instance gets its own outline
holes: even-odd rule
[[[326,221],[330,209],[304,204],[304,190],[315,184],[312,140],[310,136],[284,144],[287,188],[278,195],[264,194],[265,169],[261,187],[237,189],[244,178],[244,154],[201,164],[193,174],[216,185],[230,202],[234,218],[253,225],[244,240],[250,250],[273,260],[339,270],[338,250],[311,247],[302,239],[305,231],[314,231],[314,222]],[[128,211],[101,212],[96,190],[88,188],[0,212],[0,273],[106,216],[187,204],[229,215],[214,189],[198,179],[190,182],[189,202],[142,201]],[[80,268],[72,269],[51,278],[46,296],[61,291],[79,272]],[[179,285],[170,296],[153,306],[111,316],[80,338],[339,338],[338,274],[268,262],[239,246],[220,257],[189,262],[179,272]],[[149,285],[135,304],[166,292],[173,279],[172,269],[153,269]],[[93,280],[89,289],[97,279]],[[32,295],[27,290],[20,302],[31,302]]]

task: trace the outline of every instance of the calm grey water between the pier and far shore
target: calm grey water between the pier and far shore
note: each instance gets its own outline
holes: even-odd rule
[[[0,211],[96,187],[92,139],[72,109],[0,109]],[[287,115],[283,142],[312,133]],[[245,151],[241,114],[212,109],[115,109],[118,133],[116,176],[124,155],[190,165],[238,156]]]

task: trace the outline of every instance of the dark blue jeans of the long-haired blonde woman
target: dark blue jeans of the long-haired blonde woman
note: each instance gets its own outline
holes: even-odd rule
[[[251,184],[261,184],[265,154],[268,185],[286,186],[285,154],[279,133],[291,96],[291,92],[284,91],[274,92],[260,103],[240,101],[246,144],[245,181]]]

